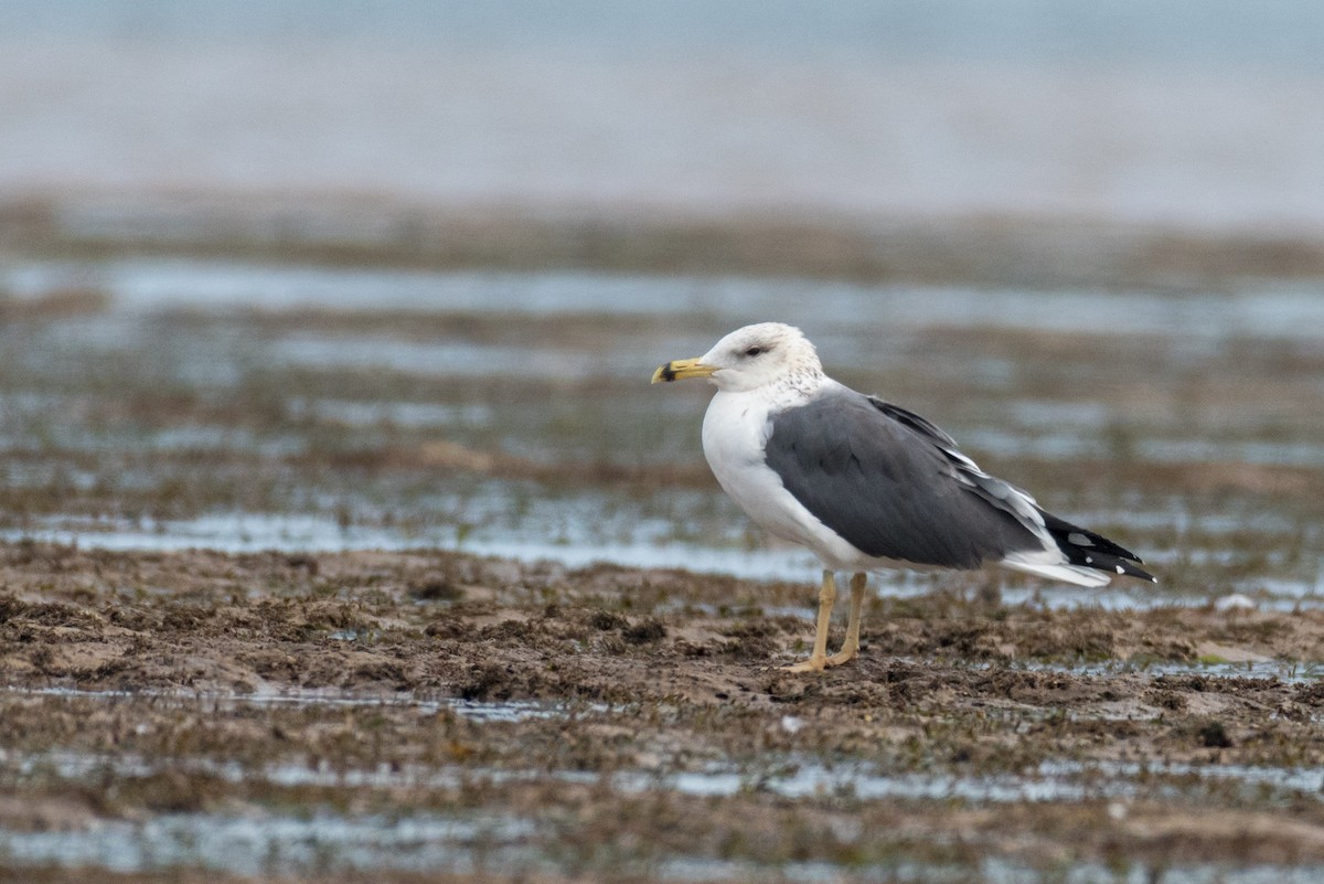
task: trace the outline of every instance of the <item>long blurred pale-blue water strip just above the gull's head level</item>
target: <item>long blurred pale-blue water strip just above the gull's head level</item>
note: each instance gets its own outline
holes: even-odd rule
[[[1165,335],[1188,343],[1245,336],[1313,343],[1312,330],[1324,326],[1324,302],[1317,291],[1278,283],[1259,285],[1253,292],[1178,296],[1143,291],[869,286],[794,278],[422,273],[188,259],[0,265],[0,291],[33,298],[70,287],[106,291],[115,308],[138,315],[180,307],[216,314],[316,307],[531,318],[695,312],[710,318],[715,327],[743,324],[749,316],[777,316],[812,328],[831,328],[835,339],[816,337],[816,343],[824,348],[830,341],[834,357],[842,360],[879,356],[867,337],[850,333],[858,328],[861,316],[871,315],[887,316],[892,333],[898,328],[925,327],[1074,332],[1079,330],[1079,316],[1087,315],[1110,333]],[[1088,412],[1075,414],[1094,417]]]

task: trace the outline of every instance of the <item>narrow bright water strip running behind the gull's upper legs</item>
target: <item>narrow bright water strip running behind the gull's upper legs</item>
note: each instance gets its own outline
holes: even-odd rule
[[[621,502],[608,502],[594,495],[576,499],[548,500],[542,512],[526,512],[514,524],[499,523],[503,507],[514,506],[499,490],[494,496],[471,498],[465,521],[463,540],[457,543],[454,524],[412,525],[408,529],[346,524],[331,516],[270,515],[270,513],[214,513],[181,520],[146,520],[132,525],[117,519],[70,519],[53,516],[33,520],[24,529],[3,529],[0,539],[15,543],[38,540],[73,544],[83,548],[111,551],[171,552],[181,549],[217,549],[222,552],[339,552],[347,549],[458,549],[479,556],[515,558],[519,561],[552,561],[567,568],[587,568],[594,564],[614,564],[629,568],[685,568],[694,573],[730,574],[747,580],[790,581],[806,585],[806,599],[812,601],[813,586],[821,573],[817,560],[804,549],[779,544],[755,549],[722,549],[663,539],[674,532],[671,520],[622,512]],[[522,504],[523,506],[523,504]],[[610,508],[610,516],[602,515]],[[580,517],[571,517],[579,513]],[[507,513],[508,519],[508,513]],[[730,521],[710,512],[703,524],[711,525],[710,537],[722,531],[743,531],[743,516]],[[628,521],[632,540],[604,537],[593,525]],[[498,524],[485,524],[498,523]],[[587,527],[587,528],[585,528]],[[1227,556],[1210,551],[1209,556]],[[1200,561],[1200,551],[1186,549],[1186,561]],[[1165,556],[1148,556],[1151,564],[1162,564]],[[1128,586],[1117,581],[1104,588],[1082,589],[1042,582],[1038,585],[1004,586],[1001,599],[1006,605],[1043,606],[1053,610],[1099,607],[1103,610],[1148,610],[1172,605],[1204,606],[1233,599],[1230,605],[1264,611],[1291,611],[1324,607],[1320,570],[1304,581],[1287,578],[1255,580],[1245,593],[1173,594],[1162,586]],[[871,578],[874,592],[883,597],[907,598],[932,590],[924,580],[911,580],[907,572],[895,572]],[[809,605],[806,601],[806,606]]]

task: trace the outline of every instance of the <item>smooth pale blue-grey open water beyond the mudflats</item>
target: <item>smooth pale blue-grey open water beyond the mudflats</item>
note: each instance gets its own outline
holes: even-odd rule
[[[1324,225],[1304,0],[5,0],[0,187]]]

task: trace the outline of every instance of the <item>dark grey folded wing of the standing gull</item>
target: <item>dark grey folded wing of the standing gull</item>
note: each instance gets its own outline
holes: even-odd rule
[[[918,414],[854,390],[775,416],[764,454],[796,500],[869,556],[978,568],[1045,548],[1029,495]]]

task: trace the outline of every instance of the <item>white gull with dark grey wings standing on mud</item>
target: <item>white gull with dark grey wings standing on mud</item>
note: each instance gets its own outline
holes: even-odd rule
[[[880,568],[994,564],[1078,586],[1112,574],[1155,581],[1135,553],[1045,512],[920,416],[828,377],[798,328],[745,326],[698,359],[659,367],[653,382],[688,377],[718,388],[703,454],[723,490],[824,565],[813,654],[788,671],[855,658],[867,572]],[[828,656],[837,570],[851,572],[850,618],[842,650]]]

